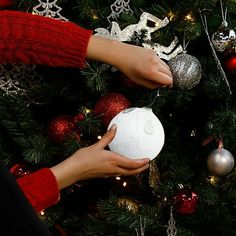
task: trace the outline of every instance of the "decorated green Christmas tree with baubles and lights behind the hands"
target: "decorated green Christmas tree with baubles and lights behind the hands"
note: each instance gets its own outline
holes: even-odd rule
[[[235,0],[6,6],[152,48],[174,77],[173,88],[150,90],[98,62],[83,70],[1,66],[0,158],[16,178],[93,144],[122,109],[151,109],[164,128],[164,145],[142,174],[63,190],[39,214],[53,234],[236,235]]]

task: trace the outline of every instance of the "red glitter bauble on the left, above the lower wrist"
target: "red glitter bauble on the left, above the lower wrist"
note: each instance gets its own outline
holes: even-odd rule
[[[74,129],[75,125],[72,117],[66,115],[54,118],[48,125],[49,136],[57,143],[64,142]]]

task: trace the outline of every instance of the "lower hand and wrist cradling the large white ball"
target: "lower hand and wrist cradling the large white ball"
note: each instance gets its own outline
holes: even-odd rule
[[[118,153],[105,150],[115,137],[112,127],[95,144],[81,148],[71,157],[51,168],[59,189],[77,181],[91,178],[107,178],[119,175],[135,175],[149,167],[149,159],[131,160]]]

